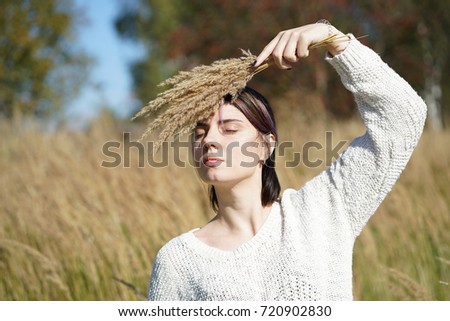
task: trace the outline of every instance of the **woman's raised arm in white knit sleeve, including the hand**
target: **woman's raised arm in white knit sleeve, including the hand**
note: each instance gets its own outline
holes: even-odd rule
[[[280,68],[290,68],[308,55],[310,45],[328,37],[328,28],[314,24],[279,33],[261,52],[257,65],[272,56]],[[353,93],[367,132],[294,197],[315,204],[334,200],[332,213],[344,215],[356,237],[405,168],[422,134],[426,105],[378,54],[349,37],[349,41],[329,44],[334,57],[326,60]]]

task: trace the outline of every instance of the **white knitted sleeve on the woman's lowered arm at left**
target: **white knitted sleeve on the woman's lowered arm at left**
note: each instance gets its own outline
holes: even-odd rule
[[[166,247],[162,247],[153,262],[148,287],[149,301],[179,301],[180,284],[177,271],[173,268]]]

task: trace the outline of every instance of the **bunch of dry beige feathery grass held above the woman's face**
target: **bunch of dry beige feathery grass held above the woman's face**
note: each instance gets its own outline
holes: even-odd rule
[[[237,97],[252,77],[268,67],[254,68],[256,56],[242,50],[240,58],[222,59],[211,65],[202,65],[191,71],[181,71],[159,86],[172,86],[144,106],[132,119],[149,117],[159,110],[164,111],[151,122],[141,140],[157,129],[162,129],[154,151],[162,142],[175,134],[186,133],[195,123],[208,117],[220,106],[223,97]]]

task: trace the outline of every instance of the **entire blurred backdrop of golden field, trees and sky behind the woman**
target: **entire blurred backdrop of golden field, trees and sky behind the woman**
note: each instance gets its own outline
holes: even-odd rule
[[[130,117],[175,72],[257,55],[279,31],[323,18],[365,36],[429,108],[355,245],[355,299],[450,300],[450,2],[439,0],[2,0],[0,300],[145,299],[157,250],[213,216],[207,187],[190,167],[139,166],[137,148],[130,166],[105,168],[104,144],[140,137],[146,124]],[[364,133],[324,54],[250,83],[282,141]],[[277,171],[284,189],[324,168]]]

